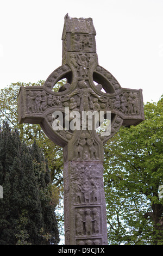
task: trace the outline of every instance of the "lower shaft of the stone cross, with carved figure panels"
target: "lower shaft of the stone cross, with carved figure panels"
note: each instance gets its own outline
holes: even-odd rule
[[[65,245],[107,245],[101,161],[64,164]]]

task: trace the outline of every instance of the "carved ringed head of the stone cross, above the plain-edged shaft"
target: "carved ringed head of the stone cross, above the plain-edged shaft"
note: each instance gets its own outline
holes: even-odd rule
[[[42,87],[21,87],[18,94],[19,123],[39,123],[54,143],[71,149],[68,160],[103,160],[103,143],[121,125],[137,125],[144,119],[142,90],[121,88],[115,77],[99,66],[95,35],[91,18],[77,19],[67,14],[62,33],[62,65]],[[63,78],[66,83],[54,92],[53,87]],[[87,129],[87,124],[85,129],[67,128],[65,109],[68,115],[79,113],[81,121],[83,112],[110,112],[110,133],[102,136],[96,129]],[[59,112],[63,127],[54,129]]]

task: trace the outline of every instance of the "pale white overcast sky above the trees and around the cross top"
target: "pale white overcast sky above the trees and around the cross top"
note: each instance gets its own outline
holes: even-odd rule
[[[61,65],[64,16],[91,17],[99,65],[121,87],[163,93],[163,0],[0,0],[0,88],[46,80]]]

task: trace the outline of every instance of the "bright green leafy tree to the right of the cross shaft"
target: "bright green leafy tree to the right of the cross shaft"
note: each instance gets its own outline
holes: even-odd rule
[[[163,245],[162,107],[147,102],[145,121],[121,127],[105,145],[110,244]]]

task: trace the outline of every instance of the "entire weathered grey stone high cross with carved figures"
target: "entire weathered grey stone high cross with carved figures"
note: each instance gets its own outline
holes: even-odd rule
[[[98,65],[92,19],[65,16],[62,65],[41,87],[21,87],[19,123],[40,124],[64,151],[65,245],[107,245],[103,188],[103,144],[121,125],[144,120],[142,90],[121,88],[114,76]],[[66,78],[58,92],[55,84]],[[111,132],[95,129],[54,129],[55,111],[110,111]]]

